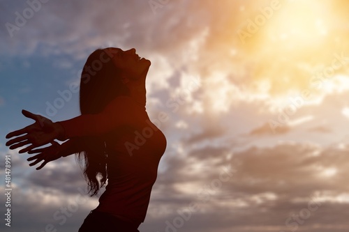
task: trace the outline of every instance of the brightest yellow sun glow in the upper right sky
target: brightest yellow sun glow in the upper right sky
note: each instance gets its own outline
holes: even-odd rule
[[[332,44],[335,38],[330,30],[336,24],[336,12],[328,10],[329,4],[282,1],[280,9],[253,34],[248,44],[253,49],[248,52],[258,59],[251,77],[259,86],[255,94],[267,90],[272,97],[285,99],[308,89],[315,98],[305,103],[315,104],[324,95],[349,86],[348,77],[343,75],[346,63],[336,61],[339,65],[332,67],[343,51],[334,50]],[[267,87],[262,88],[262,84]]]

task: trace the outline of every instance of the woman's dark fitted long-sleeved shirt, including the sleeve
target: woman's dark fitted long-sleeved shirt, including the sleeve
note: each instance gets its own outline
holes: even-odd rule
[[[166,148],[165,135],[151,123],[145,107],[123,96],[100,114],[59,123],[66,138],[98,135],[105,139],[108,183],[96,210],[144,222],[158,163]]]

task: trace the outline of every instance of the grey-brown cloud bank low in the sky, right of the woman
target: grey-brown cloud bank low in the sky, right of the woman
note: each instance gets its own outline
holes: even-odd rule
[[[208,146],[190,152],[186,162],[170,157],[169,169],[159,175],[155,185],[147,223],[165,231],[166,222],[175,222],[179,212],[188,212],[195,202],[199,209],[184,221],[183,231],[210,231],[213,224],[215,231],[288,230],[285,222],[290,214],[303,213],[301,210],[311,202],[318,207],[299,229],[318,231],[318,223],[329,230],[336,224],[346,228],[348,215],[328,218],[349,203],[345,200],[349,192],[343,185],[349,170],[347,148],[348,144],[339,149],[281,143],[248,148],[228,158],[228,150]],[[228,164],[235,168],[232,178],[219,189],[210,187]],[[205,188],[210,192],[206,201],[199,194]]]

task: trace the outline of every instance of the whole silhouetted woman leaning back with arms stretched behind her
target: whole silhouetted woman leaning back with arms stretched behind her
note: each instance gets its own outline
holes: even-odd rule
[[[89,193],[106,185],[99,205],[84,219],[79,232],[138,231],[144,222],[158,163],[166,139],[151,123],[147,111],[145,79],[151,63],[135,49],[97,49],[87,59],[80,79],[81,115],[53,123],[22,111],[35,123],[10,132],[6,146],[36,154],[30,166],[77,153],[84,162]],[[57,143],[65,141],[62,144]],[[51,144],[43,148],[46,144]]]

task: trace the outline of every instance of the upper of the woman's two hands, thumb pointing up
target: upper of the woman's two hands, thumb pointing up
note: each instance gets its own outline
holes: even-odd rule
[[[64,129],[59,123],[52,123],[50,119],[38,114],[33,114],[24,109],[22,110],[22,114],[27,118],[34,119],[35,123],[6,135],[6,139],[17,137],[6,143],[6,146],[10,146],[10,149],[31,144],[27,146],[27,148],[20,150],[20,153],[26,153],[39,146],[49,144],[54,141],[54,139],[61,139],[61,137],[63,137]]]

